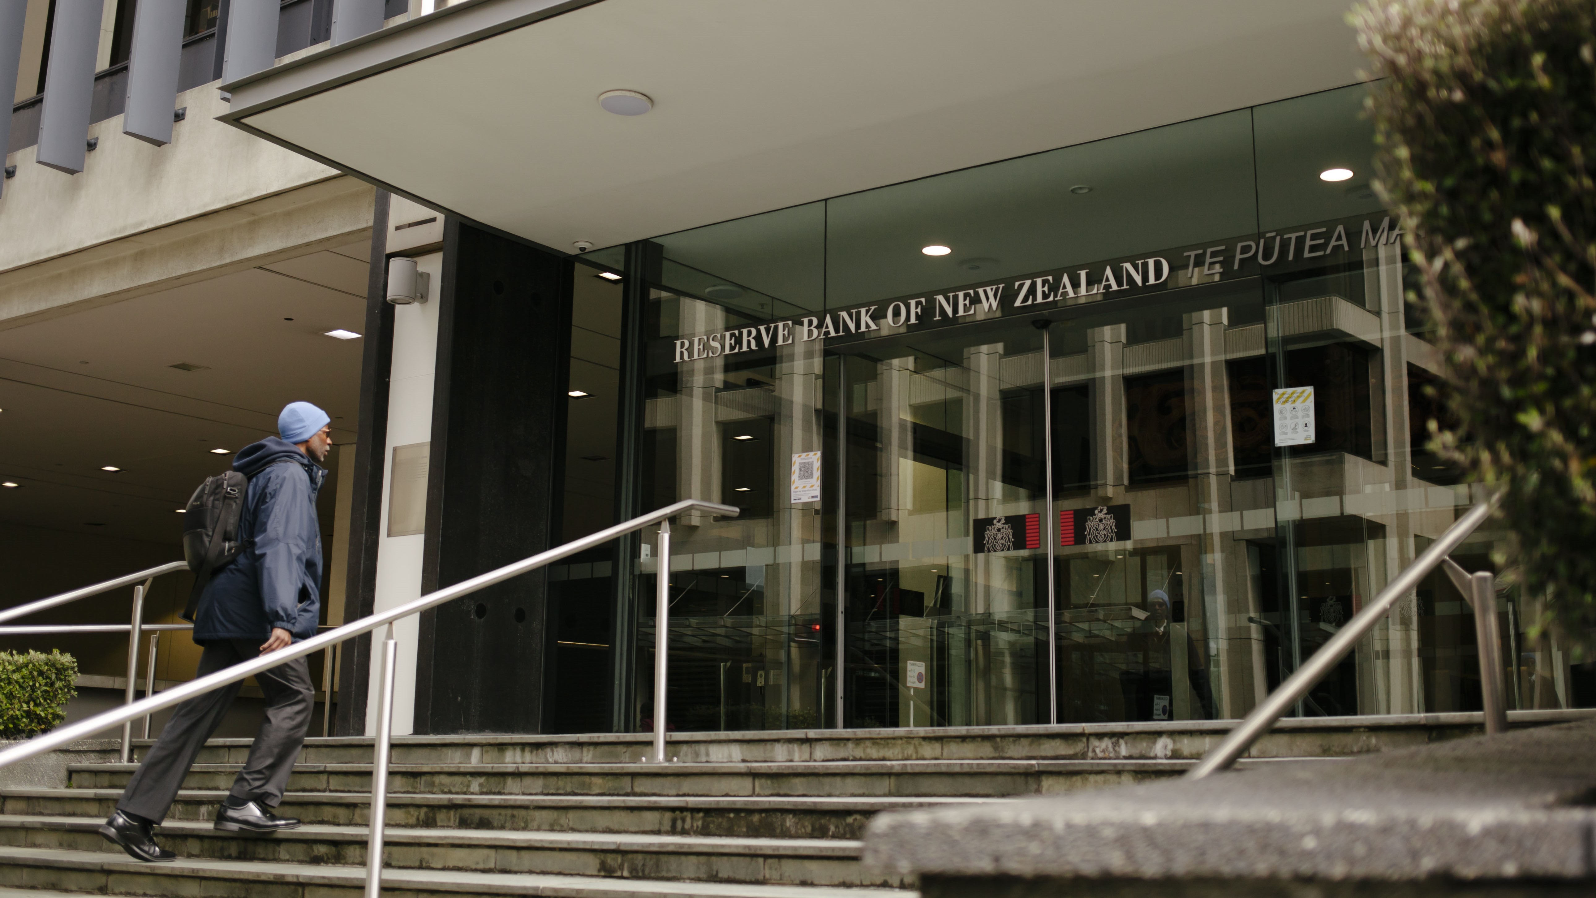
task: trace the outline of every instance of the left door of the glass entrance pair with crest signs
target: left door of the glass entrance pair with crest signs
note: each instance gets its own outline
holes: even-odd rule
[[[1041,332],[844,359],[846,726],[1045,723]]]

